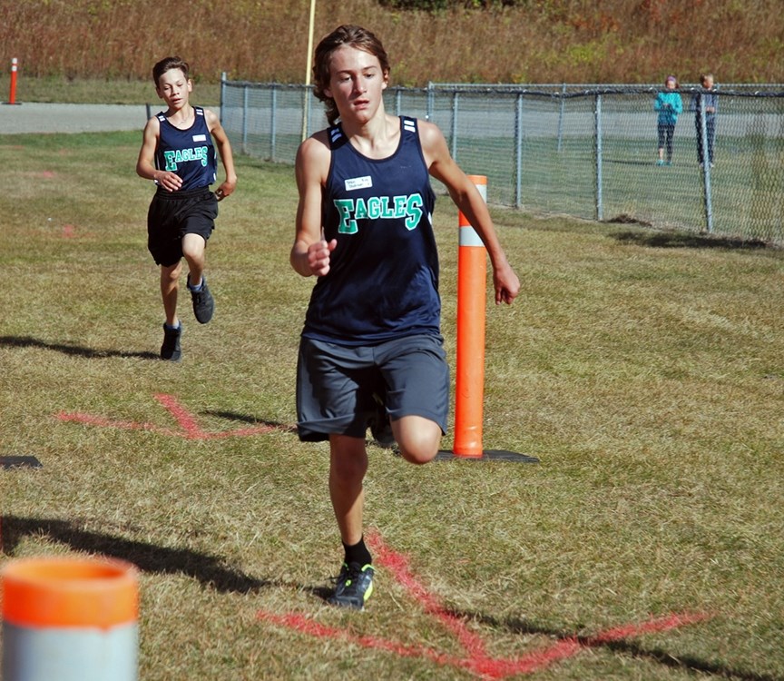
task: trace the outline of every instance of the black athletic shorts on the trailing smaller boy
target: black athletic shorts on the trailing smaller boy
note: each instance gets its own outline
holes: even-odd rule
[[[206,242],[215,229],[218,200],[209,187],[187,192],[159,188],[147,212],[147,249],[155,263],[171,267],[182,257],[182,237],[199,234]]]

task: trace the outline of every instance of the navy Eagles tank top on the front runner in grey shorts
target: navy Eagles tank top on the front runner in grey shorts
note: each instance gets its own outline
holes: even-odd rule
[[[303,335],[341,345],[440,335],[436,195],[417,120],[400,118],[400,142],[385,159],[359,153],[339,124],[328,133],[322,224],[338,246],[313,288]]]

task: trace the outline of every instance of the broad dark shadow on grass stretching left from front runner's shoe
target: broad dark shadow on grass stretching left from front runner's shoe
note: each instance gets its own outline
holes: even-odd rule
[[[143,572],[193,577],[203,586],[214,588],[220,593],[250,594],[267,587],[285,587],[308,591],[324,600],[329,596],[326,587],[305,587],[252,577],[239,569],[224,565],[219,556],[190,548],[159,547],[143,541],[92,532],[67,520],[3,516],[0,531],[0,547],[8,556],[13,555],[22,538],[45,536],[73,548],[74,551],[127,560]]]

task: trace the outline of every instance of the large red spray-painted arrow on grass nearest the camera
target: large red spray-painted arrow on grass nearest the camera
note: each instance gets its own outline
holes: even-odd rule
[[[436,617],[442,625],[456,636],[458,643],[466,651],[466,656],[447,655],[446,653],[425,647],[404,646],[381,637],[356,636],[344,629],[326,627],[298,613],[289,613],[289,615],[281,616],[260,611],[258,617],[313,637],[339,638],[358,646],[384,650],[395,653],[398,656],[425,657],[438,665],[466,669],[466,671],[471,672],[475,676],[485,679],[504,679],[508,676],[533,674],[555,662],[575,656],[588,647],[603,646],[627,637],[636,637],[641,634],[651,634],[684,627],[711,617],[701,613],[671,614],[665,617],[653,618],[641,624],[630,624],[607,629],[593,637],[575,636],[563,638],[552,646],[522,657],[490,657],[485,652],[484,642],[467,629],[466,621],[446,611],[446,608],[440,604],[438,599],[411,574],[408,568],[408,559],[405,556],[388,548],[377,532],[368,532],[366,538],[377,556],[377,565],[387,568],[397,582],[406,587],[411,597],[417,600],[427,613]]]

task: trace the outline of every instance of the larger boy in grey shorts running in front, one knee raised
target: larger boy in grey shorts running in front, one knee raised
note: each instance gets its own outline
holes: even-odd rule
[[[329,440],[329,495],[344,558],[330,602],[365,606],[373,591],[363,539],[365,433],[380,402],[403,459],[424,464],[446,430],[449,372],[440,334],[430,175],[474,226],[493,265],[495,301],[520,282],[482,196],[433,123],[385,112],[387,53],[359,26],[316,48],[315,94],[330,127],[299,146],[290,262],[316,276],[299,346],[299,437]],[[339,118],[339,123],[338,123]]]

